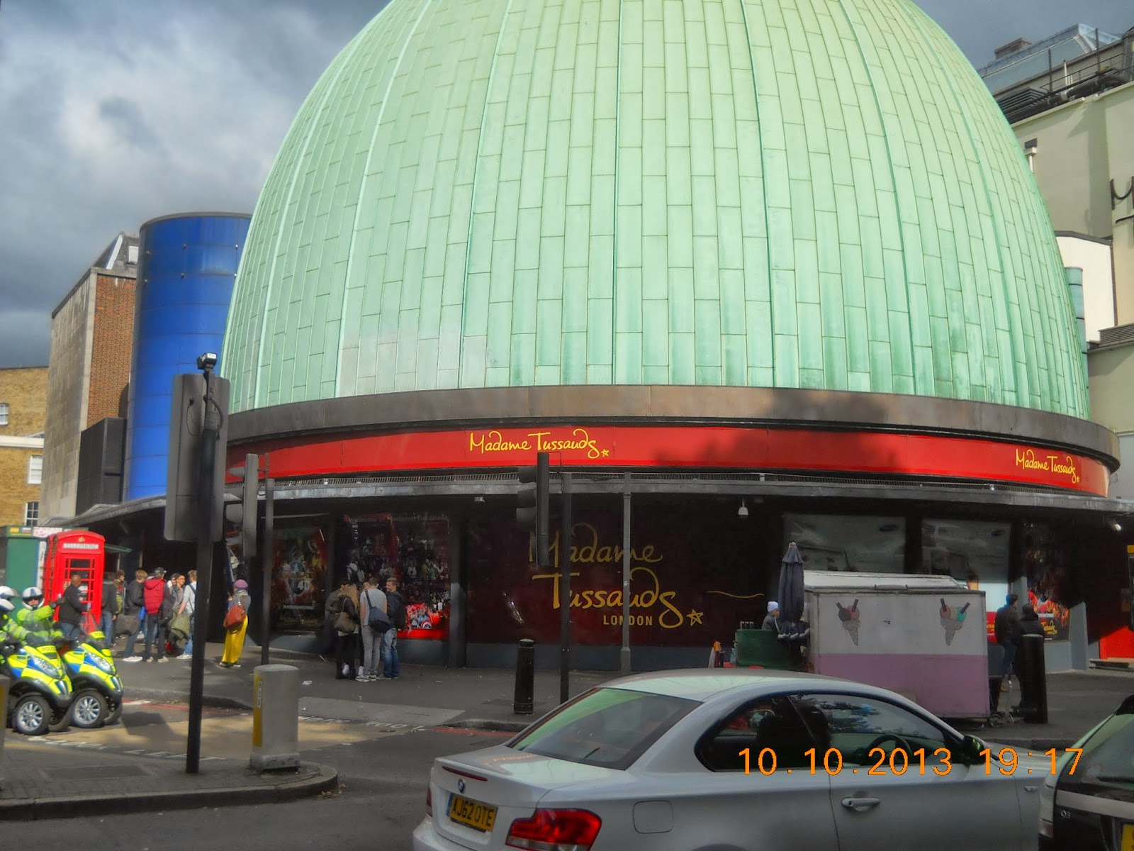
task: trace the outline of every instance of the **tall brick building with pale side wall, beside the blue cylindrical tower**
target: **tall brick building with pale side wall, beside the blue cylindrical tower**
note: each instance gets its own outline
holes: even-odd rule
[[[137,234],[119,234],[51,313],[44,519],[76,513],[83,432],[126,416],[137,261]]]

